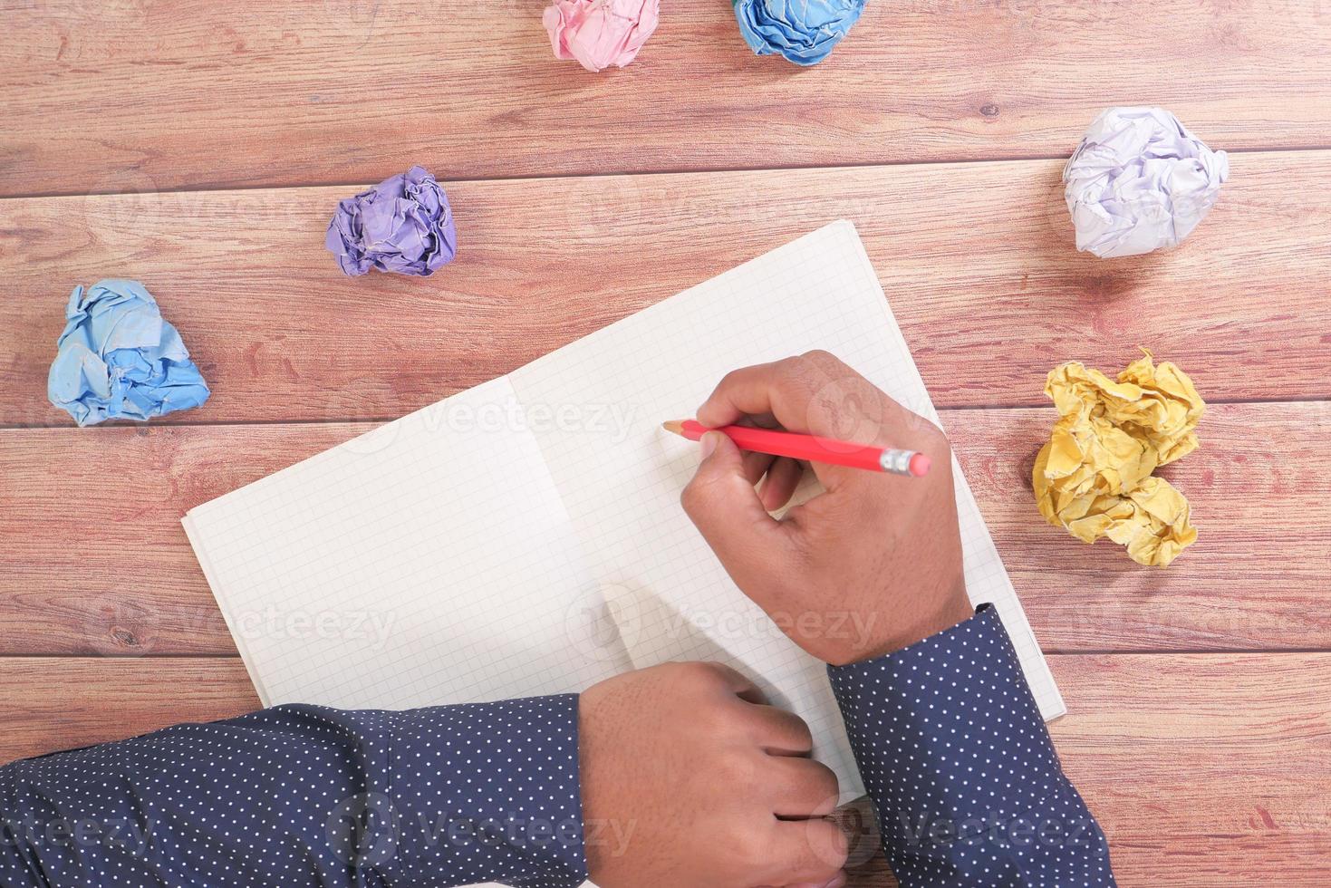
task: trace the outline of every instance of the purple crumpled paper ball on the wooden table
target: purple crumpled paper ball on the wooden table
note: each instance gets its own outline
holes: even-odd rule
[[[413,166],[338,201],[323,246],[351,277],[371,268],[430,277],[453,261],[458,230],[443,186],[422,166]]]

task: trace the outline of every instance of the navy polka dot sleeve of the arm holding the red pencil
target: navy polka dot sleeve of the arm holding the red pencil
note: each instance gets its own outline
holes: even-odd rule
[[[902,888],[1114,884],[993,607],[829,674]]]

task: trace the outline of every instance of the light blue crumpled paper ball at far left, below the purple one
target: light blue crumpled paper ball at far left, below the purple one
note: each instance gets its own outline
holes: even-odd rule
[[[185,342],[142,284],[76,286],[65,317],[47,395],[80,426],[148,419],[208,401]]]

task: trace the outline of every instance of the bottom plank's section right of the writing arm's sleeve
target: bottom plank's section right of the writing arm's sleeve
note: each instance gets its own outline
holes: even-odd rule
[[[1327,655],[1055,656],[1065,768],[1121,885],[1324,885]]]

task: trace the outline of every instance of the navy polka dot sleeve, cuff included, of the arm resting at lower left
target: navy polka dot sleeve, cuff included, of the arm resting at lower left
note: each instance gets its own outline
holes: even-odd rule
[[[284,706],[0,768],[0,885],[574,888],[572,695]]]

